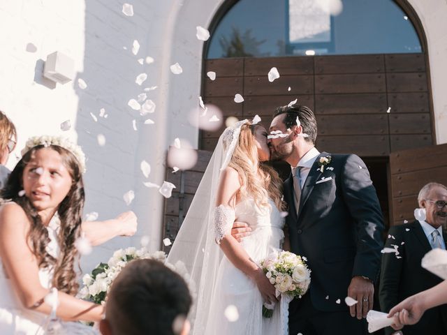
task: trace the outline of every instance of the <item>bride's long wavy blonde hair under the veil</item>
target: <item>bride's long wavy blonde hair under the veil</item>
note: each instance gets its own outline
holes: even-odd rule
[[[250,195],[260,208],[268,207],[268,198],[271,198],[278,209],[284,210],[281,178],[273,168],[263,164],[258,158],[254,133],[256,127],[259,126],[252,125],[251,121],[242,125],[239,140],[228,166],[239,174],[242,185],[241,198],[247,198],[247,195]]]

